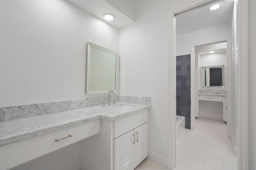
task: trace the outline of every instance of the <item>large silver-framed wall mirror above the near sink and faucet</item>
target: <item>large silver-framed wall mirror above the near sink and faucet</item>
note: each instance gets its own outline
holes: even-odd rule
[[[88,42],[86,94],[118,92],[118,53]]]

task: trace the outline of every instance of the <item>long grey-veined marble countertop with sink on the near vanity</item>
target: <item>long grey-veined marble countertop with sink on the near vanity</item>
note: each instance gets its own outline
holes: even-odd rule
[[[127,107],[121,108],[122,105]],[[110,107],[117,109],[111,109]],[[0,145],[6,145],[95,119],[115,120],[148,108],[150,108],[150,105],[118,102],[116,105],[106,107],[85,107],[82,109],[3,121],[0,122]]]

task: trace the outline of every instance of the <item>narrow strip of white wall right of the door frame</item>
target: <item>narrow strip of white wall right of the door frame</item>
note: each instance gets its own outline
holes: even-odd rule
[[[250,0],[249,30],[249,168],[256,170],[256,1]],[[239,49],[238,49],[239,50]]]

